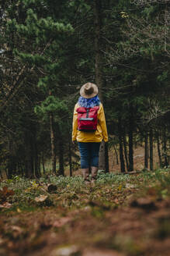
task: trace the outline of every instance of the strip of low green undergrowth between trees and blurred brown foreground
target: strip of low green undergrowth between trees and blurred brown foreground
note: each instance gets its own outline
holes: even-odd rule
[[[52,194],[47,190],[49,183],[56,186]],[[50,175],[41,177],[40,180],[14,176],[10,180],[4,180],[0,185],[0,209],[2,212],[7,211],[3,208],[6,202],[10,204],[9,210],[13,211],[18,208],[25,210],[26,205],[30,211],[34,207],[43,206],[82,208],[92,201],[106,207],[117,207],[124,204],[131,194],[140,194],[141,190],[145,195],[154,193],[159,198],[168,197],[170,169],[145,171],[135,175],[99,171],[95,186],[86,186],[81,176]],[[44,196],[44,201],[36,202],[35,198],[40,196]]]

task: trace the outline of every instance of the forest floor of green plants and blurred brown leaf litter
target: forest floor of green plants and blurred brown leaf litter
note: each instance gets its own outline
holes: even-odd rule
[[[50,184],[53,184],[51,187]],[[170,169],[1,183],[0,255],[168,256]]]

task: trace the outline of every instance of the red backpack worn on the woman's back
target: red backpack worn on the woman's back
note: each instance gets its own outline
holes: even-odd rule
[[[97,112],[99,106],[93,108],[77,108],[78,112],[78,130],[84,132],[94,132],[97,130]]]

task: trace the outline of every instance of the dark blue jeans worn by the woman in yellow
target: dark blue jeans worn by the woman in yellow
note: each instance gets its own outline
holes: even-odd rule
[[[100,142],[78,142],[82,169],[88,168],[89,166],[98,167],[99,147]]]

